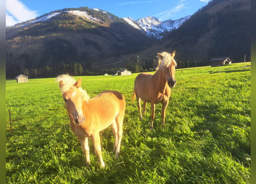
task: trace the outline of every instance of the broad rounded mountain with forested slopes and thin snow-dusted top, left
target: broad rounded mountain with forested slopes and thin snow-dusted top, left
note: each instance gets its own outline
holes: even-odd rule
[[[6,77],[55,76],[118,62],[121,55],[142,51],[153,39],[123,18],[81,7],[52,11],[35,20],[6,28]]]

